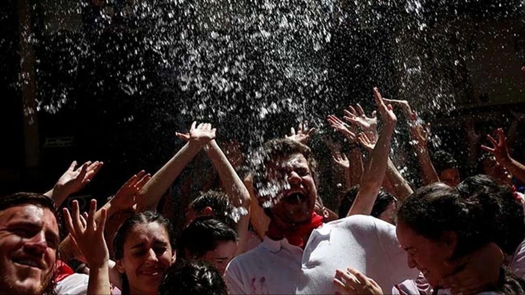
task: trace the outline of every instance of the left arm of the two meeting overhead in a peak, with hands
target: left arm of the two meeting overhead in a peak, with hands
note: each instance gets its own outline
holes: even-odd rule
[[[181,174],[184,167],[190,163],[206,143],[215,138],[215,132],[209,132],[206,130],[206,126],[205,123],[201,123],[197,127],[196,122],[193,122],[189,133],[176,133],[179,138],[186,140],[187,143],[144,185],[138,198],[137,209],[139,212],[156,210],[160,199],[177,176]]]

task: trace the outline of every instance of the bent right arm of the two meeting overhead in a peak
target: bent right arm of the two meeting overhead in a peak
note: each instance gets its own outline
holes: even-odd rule
[[[211,129],[211,127],[209,128]],[[236,254],[242,254],[245,251],[248,240],[248,224],[250,222],[251,200],[248,189],[246,189],[243,181],[215,140],[209,142],[205,150],[209,159],[212,160],[215,170],[219,174],[220,181],[223,184],[224,191],[229,197],[230,203],[239,209],[239,220],[237,220],[239,245]]]

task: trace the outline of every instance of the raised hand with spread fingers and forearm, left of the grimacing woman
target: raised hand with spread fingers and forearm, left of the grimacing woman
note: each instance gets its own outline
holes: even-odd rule
[[[89,264],[88,294],[111,294],[109,283],[109,251],[104,239],[104,224],[106,224],[106,209],[101,210],[101,218],[95,220],[97,201],[91,200],[87,220],[80,216],[78,202],[73,202],[73,215],[64,209],[69,237],[80,249]]]

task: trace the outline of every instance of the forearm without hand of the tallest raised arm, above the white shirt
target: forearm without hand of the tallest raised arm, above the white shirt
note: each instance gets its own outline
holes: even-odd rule
[[[348,212],[348,216],[354,214],[370,215],[374,207],[375,199],[381,189],[386,172],[388,154],[390,154],[390,141],[394,126],[385,125],[374,150],[370,156],[370,166],[364,172],[358,195]]]

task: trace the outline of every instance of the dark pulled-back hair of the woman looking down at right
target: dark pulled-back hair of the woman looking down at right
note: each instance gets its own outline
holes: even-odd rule
[[[494,240],[492,220],[479,201],[486,198],[485,192],[466,199],[445,184],[427,185],[401,202],[397,222],[435,241],[439,241],[445,231],[453,231],[457,245],[451,259],[463,257]],[[525,291],[525,281],[501,268],[496,289],[503,293],[520,294]]]

